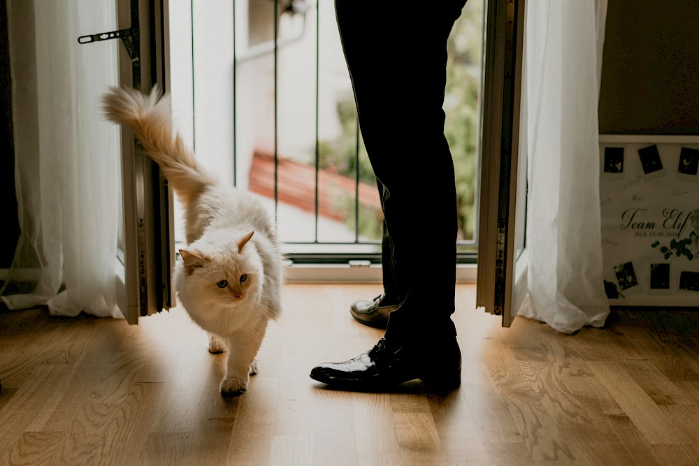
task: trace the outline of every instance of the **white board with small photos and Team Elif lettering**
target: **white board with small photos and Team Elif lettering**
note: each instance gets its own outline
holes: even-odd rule
[[[600,135],[610,305],[699,307],[699,136]]]

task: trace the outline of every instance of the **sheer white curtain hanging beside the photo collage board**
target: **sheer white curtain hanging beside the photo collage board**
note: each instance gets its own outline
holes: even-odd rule
[[[607,0],[526,3],[528,299],[563,333],[600,327],[604,291],[598,96]]]

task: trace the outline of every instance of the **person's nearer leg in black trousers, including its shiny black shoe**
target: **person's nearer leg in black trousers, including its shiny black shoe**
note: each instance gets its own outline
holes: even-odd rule
[[[442,103],[447,37],[464,3],[448,0],[424,7],[403,2],[389,8],[387,2],[336,0],[359,124],[382,184],[391,252],[385,265],[394,273],[401,306],[390,315],[386,340],[352,361],[315,367],[314,379],[350,381],[360,372],[366,374],[364,381],[405,381],[412,375],[425,379],[421,374],[428,365],[430,377],[436,378],[446,353],[445,364],[460,370],[451,320],[456,189]],[[391,347],[391,354],[405,350],[406,363],[400,373],[387,377],[377,363],[388,354],[385,347]],[[388,364],[398,367],[395,362]],[[358,372],[357,367],[363,369]]]

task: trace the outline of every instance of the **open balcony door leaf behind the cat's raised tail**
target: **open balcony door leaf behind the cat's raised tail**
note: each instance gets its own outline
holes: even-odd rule
[[[168,90],[168,0],[117,0],[120,85]],[[122,201],[117,274],[119,307],[129,323],[175,305],[173,193],[134,133],[122,128]]]

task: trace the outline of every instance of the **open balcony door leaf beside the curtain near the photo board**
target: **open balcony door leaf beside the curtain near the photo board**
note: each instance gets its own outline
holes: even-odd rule
[[[489,0],[486,14],[476,305],[509,327],[527,289],[524,0]]]

